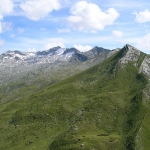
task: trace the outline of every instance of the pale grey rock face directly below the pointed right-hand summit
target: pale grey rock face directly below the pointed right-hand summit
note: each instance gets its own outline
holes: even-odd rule
[[[140,51],[130,45],[126,45],[124,48],[127,50],[127,53],[120,60],[121,64],[127,64],[128,62],[132,61],[135,62],[135,65],[137,65],[136,62],[140,57]]]

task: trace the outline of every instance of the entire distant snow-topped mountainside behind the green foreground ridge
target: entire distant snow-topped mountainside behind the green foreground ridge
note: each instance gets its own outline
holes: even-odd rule
[[[8,51],[0,55],[0,103],[18,100],[90,68],[105,60],[109,52],[95,47],[89,51],[94,53],[91,58],[75,48],[54,47],[37,53]]]

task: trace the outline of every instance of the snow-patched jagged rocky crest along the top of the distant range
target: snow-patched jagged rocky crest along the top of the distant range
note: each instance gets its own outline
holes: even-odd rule
[[[20,51],[8,51],[0,55],[0,65],[17,65],[18,63],[32,65],[32,64],[44,64],[44,63],[55,63],[56,61],[67,62],[70,59],[75,59],[76,61],[87,61],[104,53],[106,58],[110,50],[95,47],[88,52],[80,52],[75,48],[61,48],[54,47],[46,51],[39,52],[20,52]]]

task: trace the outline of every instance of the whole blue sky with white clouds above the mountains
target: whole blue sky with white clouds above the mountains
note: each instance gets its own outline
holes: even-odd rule
[[[149,0],[0,0],[0,54],[125,44],[150,54]]]

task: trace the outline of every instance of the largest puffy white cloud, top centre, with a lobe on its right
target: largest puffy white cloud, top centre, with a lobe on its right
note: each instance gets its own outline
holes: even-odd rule
[[[90,32],[103,30],[105,26],[113,25],[119,17],[119,13],[114,8],[103,12],[98,5],[86,1],[77,2],[70,9],[70,13],[68,21],[74,29]]]

